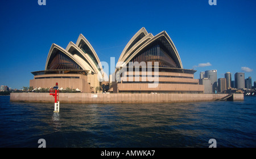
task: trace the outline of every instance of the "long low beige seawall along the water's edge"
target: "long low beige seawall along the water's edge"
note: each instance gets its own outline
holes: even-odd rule
[[[215,101],[228,94],[147,94],[147,93],[60,93],[60,103],[70,104],[149,104]],[[243,94],[233,94],[234,101]],[[11,93],[10,101],[54,103],[49,93]]]

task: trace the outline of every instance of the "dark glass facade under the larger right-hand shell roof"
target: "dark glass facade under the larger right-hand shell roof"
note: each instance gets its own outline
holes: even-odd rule
[[[169,51],[161,44],[154,44],[138,53],[131,62],[159,62],[159,67],[179,68]]]

